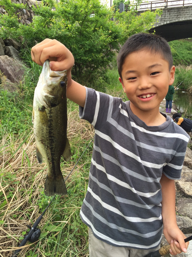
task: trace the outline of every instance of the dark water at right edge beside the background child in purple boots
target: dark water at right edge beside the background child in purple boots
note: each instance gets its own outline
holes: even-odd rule
[[[192,118],[192,95],[184,91],[177,90],[174,94],[174,103],[179,109],[178,113],[183,113],[185,117]]]

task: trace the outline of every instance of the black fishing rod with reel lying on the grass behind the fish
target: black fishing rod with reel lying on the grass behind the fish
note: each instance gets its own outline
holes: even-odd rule
[[[83,154],[86,152],[86,150],[88,149],[88,147],[90,146],[91,142],[93,141],[93,138],[91,139],[91,141],[89,142],[89,144],[87,145],[87,148],[83,151],[83,153],[81,154],[81,156],[79,157],[79,159],[77,160],[77,162],[75,163],[75,166],[73,167],[73,169],[71,170],[71,172],[69,173],[69,175],[67,176],[67,178],[65,179],[65,181],[68,179],[68,177],[71,175],[71,173],[73,172],[73,170],[75,169],[75,167],[77,166],[77,163],[80,161],[80,159],[82,158]],[[45,214],[45,212],[47,211],[47,209],[49,208],[49,206],[51,205],[52,201],[55,199],[55,196],[53,196],[52,200],[50,201],[49,205],[46,207],[46,209],[44,210],[44,212],[42,212],[42,214],[37,218],[36,222],[33,224],[33,226],[29,226],[27,225],[28,228],[30,228],[30,231],[28,232],[27,235],[25,235],[22,243],[20,243],[20,245],[18,247],[22,247],[24,246],[27,241],[31,242],[31,243],[35,243],[39,236],[40,236],[40,229],[37,228],[38,224],[40,223],[42,216]],[[11,257],[16,257],[17,254],[22,250],[22,248],[17,249],[14,251],[13,255]]]

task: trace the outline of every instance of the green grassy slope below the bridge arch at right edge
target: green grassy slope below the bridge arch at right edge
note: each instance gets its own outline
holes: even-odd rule
[[[169,42],[172,50],[174,65],[191,65],[192,63],[192,41],[191,40],[175,40]]]

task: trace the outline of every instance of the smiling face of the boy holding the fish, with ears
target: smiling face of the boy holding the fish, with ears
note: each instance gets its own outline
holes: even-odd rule
[[[159,112],[159,105],[174,82],[175,66],[169,71],[168,62],[160,53],[149,50],[132,52],[122,66],[122,80],[119,78],[130,100],[135,115],[145,112]]]

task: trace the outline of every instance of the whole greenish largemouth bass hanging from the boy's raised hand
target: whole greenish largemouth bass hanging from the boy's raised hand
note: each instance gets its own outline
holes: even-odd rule
[[[67,138],[67,70],[53,71],[49,60],[42,66],[33,98],[33,134],[36,142],[36,157],[39,163],[45,159],[47,178],[45,195],[67,194],[60,170],[60,158],[71,158]]]

